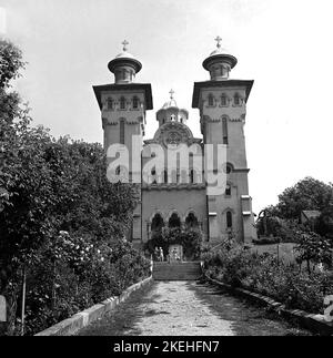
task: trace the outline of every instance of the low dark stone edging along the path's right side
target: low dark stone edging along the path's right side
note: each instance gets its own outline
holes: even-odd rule
[[[289,309],[285,305],[261,294],[253,293],[245,288],[233,287],[229,284],[221,283],[214,278],[209,277],[204,274],[204,278],[224,289],[228,289],[236,295],[252,299],[263,306],[270,307],[275,310],[279,315],[284,316],[287,319],[295,320],[300,326],[310,329],[311,331],[319,333],[321,335],[331,336],[333,335],[333,324],[327,323],[323,315],[310,314],[302,309]]]

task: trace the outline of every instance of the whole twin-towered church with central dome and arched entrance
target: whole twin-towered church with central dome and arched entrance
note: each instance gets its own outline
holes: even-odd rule
[[[251,243],[256,237],[251,196],[249,195],[245,152],[244,124],[246,102],[253,81],[230,79],[231,70],[238,60],[220,44],[203,61],[209,72],[209,80],[194,82],[192,108],[199,110],[201,137],[194,137],[188,126],[191,121],[189,112],[179,108],[174,92],[158,110],[159,123],[152,139],[145,139],[145,113],[153,109],[150,83],[135,82],[142,64],[128,52],[128,42],[123,42],[123,51],[109,62],[109,70],[114,74],[114,83],[93,86],[102,119],[104,149],[115,143],[129,150],[132,163],[133,136],[142,143],[140,162],[131,166],[131,175],[143,176],[142,170],[155,156],[154,146],[167,152],[180,145],[189,149],[199,146],[201,153],[209,155],[204,146],[220,146],[225,151],[223,171],[225,185],[223,193],[212,195],[205,181],[204,155],[203,165],[195,158],[198,153],[189,151],[188,170],[183,170],[180,161],[169,170],[167,158],[162,166],[150,171],[150,181],[141,181],[141,200],[133,213],[133,227],[130,239],[138,246],[148,242],[154,231],[161,227],[199,227],[204,241],[212,245],[225,237],[234,237],[240,243]],[[167,157],[167,156],[165,156]],[[221,171],[213,161],[213,172]],[[130,176],[131,177],[131,176]]]

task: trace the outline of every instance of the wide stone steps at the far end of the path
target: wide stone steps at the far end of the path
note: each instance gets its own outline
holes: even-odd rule
[[[196,280],[201,277],[200,262],[153,263],[155,280]]]

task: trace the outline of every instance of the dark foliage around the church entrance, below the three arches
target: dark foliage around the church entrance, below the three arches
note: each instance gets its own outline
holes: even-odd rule
[[[145,244],[150,254],[155,247],[162,247],[168,253],[170,245],[182,245],[186,258],[198,258],[202,243],[202,232],[199,228],[163,227],[161,232],[154,232]]]

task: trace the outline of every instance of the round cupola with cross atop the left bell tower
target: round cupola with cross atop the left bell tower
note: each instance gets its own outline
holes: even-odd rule
[[[108,64],[109,70],[114,73],[114,83],[117,84],[132,83],[135,74],[142,69],[141,62],[128,52],[129,42],[124,40],[122,44],[123,51]]]

